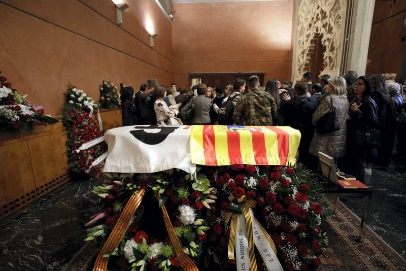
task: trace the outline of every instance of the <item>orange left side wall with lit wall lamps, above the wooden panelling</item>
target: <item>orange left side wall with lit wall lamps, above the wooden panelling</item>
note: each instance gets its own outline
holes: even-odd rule
[[[60,114],[68,82],[98,100],[103,79],[136,90],[148,78],[173,81],[172,26],[154,0],[127,0],[121,27],[111,0],[5,2],[0,71],[46,114]]]

